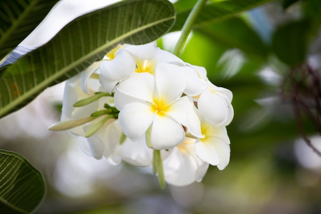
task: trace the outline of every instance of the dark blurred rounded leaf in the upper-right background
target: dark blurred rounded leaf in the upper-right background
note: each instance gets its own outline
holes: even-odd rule
[[[309,22],[295,21],[276,29],[272,49],[278,59],[295,66],[305,61],[308,44]]]

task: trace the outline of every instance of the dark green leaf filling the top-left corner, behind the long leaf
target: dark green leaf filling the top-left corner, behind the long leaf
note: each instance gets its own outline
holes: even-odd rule
[[[43,21],[58,0],[1,0],[0,60]]]

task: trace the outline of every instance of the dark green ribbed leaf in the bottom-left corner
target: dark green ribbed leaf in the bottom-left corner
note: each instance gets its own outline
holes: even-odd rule
[[[30,213],[45,196],[45,183],[22,155],[0,150],[0,213]]]

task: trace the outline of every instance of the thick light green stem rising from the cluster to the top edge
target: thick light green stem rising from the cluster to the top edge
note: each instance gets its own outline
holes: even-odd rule
[[[180,52],[182,52],[183,47],[187,41],[187,37],[192,30],[192,26],[196,17],[202,7],[205,5],[207,0],[198,0],[195,6],[193,7],[192,11],[188,15],[186,22],[182,28],[182,34],[180,34],[177,43],[175,44],[174,48],[172,49],[172,54],[178,56]]]

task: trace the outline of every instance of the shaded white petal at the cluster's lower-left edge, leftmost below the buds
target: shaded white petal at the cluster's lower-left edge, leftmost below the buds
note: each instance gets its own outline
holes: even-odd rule
[[[103,158],[104,144],[94,135],[89,138],[80,137],[79,146],[85,154],[97,160]]]

